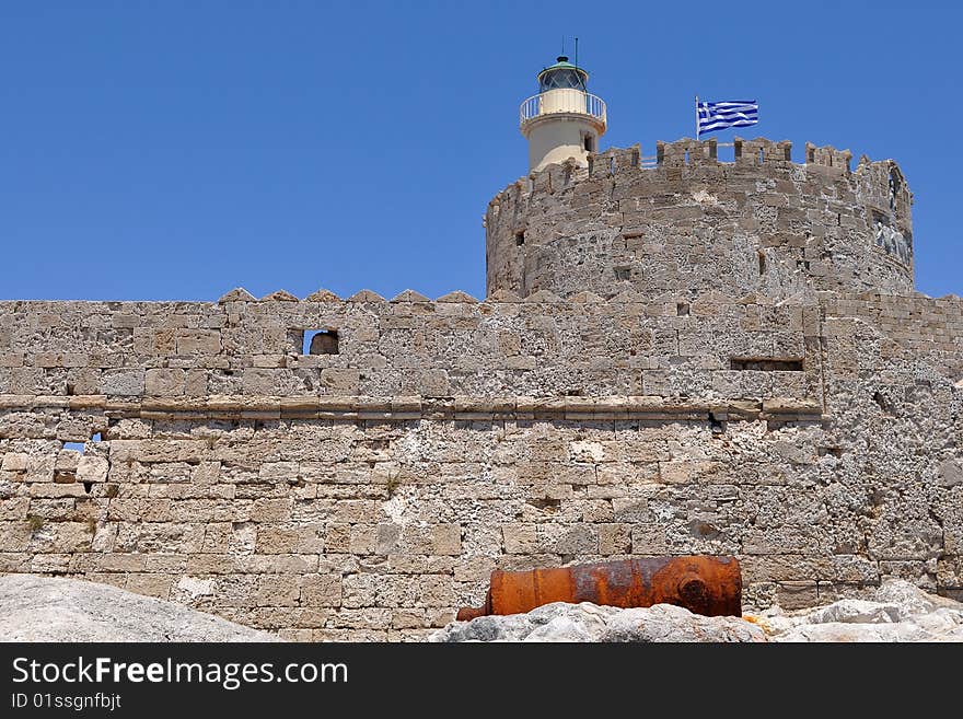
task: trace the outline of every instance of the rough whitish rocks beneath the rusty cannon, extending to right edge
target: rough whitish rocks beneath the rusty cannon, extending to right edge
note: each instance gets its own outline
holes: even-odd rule
[[[706,617],[669,604],[619,610],[565,604],[454,622],[430,641],[963,641],[963,604],[892,580],[872,600],[798,612]]]

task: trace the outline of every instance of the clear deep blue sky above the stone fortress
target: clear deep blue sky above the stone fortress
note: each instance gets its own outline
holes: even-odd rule
[[[757,97],[742,135],[797,161],[896,159],[917,287],[963,294],[961,26],[947,1],[0,0],[0,299],[484,295],[481,216],[562,35],[603,148],[692,136],[698,92]]]

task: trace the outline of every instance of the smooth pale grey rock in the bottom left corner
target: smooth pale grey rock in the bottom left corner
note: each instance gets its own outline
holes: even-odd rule
[[[0,641],[277,641],[185,606],[116,587],[0,577]]]

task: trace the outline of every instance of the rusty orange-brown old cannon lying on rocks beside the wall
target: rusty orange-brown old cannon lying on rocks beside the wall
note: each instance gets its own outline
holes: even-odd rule
[[[552,602],[620,607],[675,604],[706,616],[741,616],[742,572],[735,557],[696,556],[492,571],[485,604],[461,608],[457,618],[522,614]]]

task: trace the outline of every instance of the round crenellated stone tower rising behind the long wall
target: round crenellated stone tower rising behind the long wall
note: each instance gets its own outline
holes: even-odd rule
[[[489,204],[488,292],[630,287],[646,297],[773,297],[813,290],[913,290],[912,196],[893,161],[807,144],[735,140],[735,161],[715,140],[591,156],[589,170],[552,165]]]

